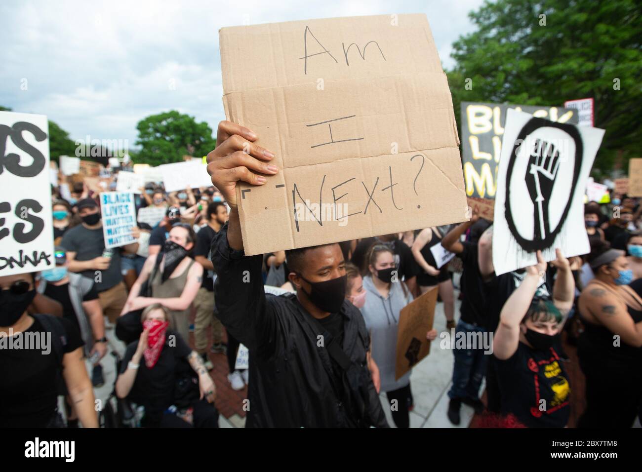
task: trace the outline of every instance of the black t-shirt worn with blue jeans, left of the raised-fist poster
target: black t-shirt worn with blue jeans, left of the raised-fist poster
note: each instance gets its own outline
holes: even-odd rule
[[[465,323],[476,324],[485,328],[487,324],[487,306],[484,297],[482,274],[478,263],[478,245],[464,241],[464,250],[458,257],[462,259],[464,271],[461,279],[461,292],[464,298],[460,312]]]

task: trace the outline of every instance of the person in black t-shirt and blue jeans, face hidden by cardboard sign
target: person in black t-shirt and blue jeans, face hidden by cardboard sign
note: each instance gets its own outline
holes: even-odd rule
[[[464,337],[464,349],[454,349],[455,366],[453,367],[453,385],[448,391],[448,419],[453,424],[461,421],[460,408],[462,403],[473,406],[477,414],[481,414],[484,405],[479,398],[479,390],[487,369],[488,353],[477,340],[482,340],[487,333],[486,300],[483,290],[482,274],[478,263],[478,240],[482,232],[489,227],[489,222],[480,219],[478,213],[473,213],[471,220],[461,223],[449,231],[442,246],[454,252],[464,265],[460,279],[460,290],[463,294],[460,307],[460,318],[457,322],[455,335]],[[471,229],[469,241],[460,241],[465,232]],[[473,333],[473,335],[469,335]],[[475,340],[473,345],[473,340]]]

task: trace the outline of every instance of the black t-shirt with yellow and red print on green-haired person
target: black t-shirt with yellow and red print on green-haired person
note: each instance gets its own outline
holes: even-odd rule
[[[566,426],[571,387],[559,352],[559,345],[536,351],[520,342],[512,357],[494,358],[502,414],[514,414],[529,428]]]

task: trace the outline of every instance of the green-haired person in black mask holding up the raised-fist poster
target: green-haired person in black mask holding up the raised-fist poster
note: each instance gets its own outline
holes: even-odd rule
[[[529,428],[564,428],[570,415],[570,385],[560,353],[560,332],[573,306],[575,282],[568,259],[557,249],[557,279],[552,299],[535,298],[546,261],[526,268],[518,288],[504,304],[495,331],[501,413],[515,415]]]

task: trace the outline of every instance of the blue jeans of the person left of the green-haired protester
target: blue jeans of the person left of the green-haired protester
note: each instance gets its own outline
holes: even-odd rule
[[[480,326],[474,326],[459,320],[455,329],[457,333],[485,333],[485,329]],[[479,337],[479,335],[476,335]],[[479,398],[480,385],[482,385],[483,376],[486,373],[486,365],[488,356],[492,354],[484,354],[484,347],[477,345],[477,349],[473,349],[473,345],[466,342],[466,349],[454,349],[455,355],[455,369],[453,369],[453,386],[448,392],[449,398]]]

